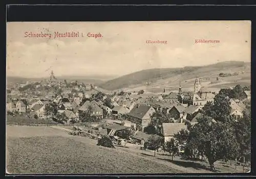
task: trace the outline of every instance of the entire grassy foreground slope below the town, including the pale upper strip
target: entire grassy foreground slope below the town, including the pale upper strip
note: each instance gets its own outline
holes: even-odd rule
[[[183,160],[154,151],[97,146],[97,140],[71,136],[62,126],[7,125],[7,171],[12,174],[208,173],[208,163]],[[218,172],[242,168],[216,162]]]

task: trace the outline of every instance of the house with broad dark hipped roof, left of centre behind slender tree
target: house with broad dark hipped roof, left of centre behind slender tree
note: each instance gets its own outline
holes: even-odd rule
[[[87,112],[91,107],[91,115],[95,115],[97,117],[103,117],[103,109],[101,109],[95,101],[87,100],[79,109],[79,112]]]

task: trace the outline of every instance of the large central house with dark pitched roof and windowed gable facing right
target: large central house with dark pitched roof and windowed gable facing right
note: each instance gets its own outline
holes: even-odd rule
[[[141,125],[140,130],[144,130],[144,128],[150,124],[152,120],[152,115],[156,110],[151,106],[146,105],[136,105],[130,113],[128,113],[128,120],[135,124],[135,127],[139,129],[137,125]]]

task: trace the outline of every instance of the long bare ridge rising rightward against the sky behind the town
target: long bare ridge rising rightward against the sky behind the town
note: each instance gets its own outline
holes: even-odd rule
[[[157,80],[172,78],[175,75],[194,76],[195,73],[200,71],[212,73],[216,70],[226,70],[231,68],[238,68],[244,66],[250,66],[250,63],[242,61],[225,61],[216,64],[205,66],[185,66],[182,68],[154,68],[137,71],[134,73],[120,76],[119,78],[109,80],[99,86],[107,90],[116,90],[126,88],[131,85],[145,84],[147,82],[154,83]]]

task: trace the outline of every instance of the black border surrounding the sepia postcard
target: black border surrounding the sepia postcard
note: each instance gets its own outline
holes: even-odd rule
[[[72,13],[67,13],[72,12]],[[243,13],[238,13],[238,12]],[[254,12],[253,12],[254,11]],[[254,70],[256,57],[256,7],[255,6],[195,6],[195,5],[176,5],[176,6],[146,6],[146,5],[8,5],[6,6],[7,22],[11,21],[165,21],[165,20],[251,20],[251,90],[254,89],[255,79]],[[46,13],[47,12],[47,13]],[[172,13],[167,13],[172,12]],[[186,13],[189,12],[189,13]],[[218,12],[218,13],[217,13]],[[228,12],[228,13],[227,13]],[[6,23],[5,23],[6,27]],[[6,44],[5,44],[6,46]],[[5,55],[6,58],[6,55]],[[4,62],[4,71],[6,71]],[[6,75],[6,74],[5,74]],[[4,76],[4,82],[6,76]],[[5,89],[6,90],[6,89]],[[6,92],[4,92],[5,94]],[[252,106],[255,97],[252,93]],[[5,101],[6,102],[6,101]],[[253,108],[253,107],[252,107]],[[252,119],[255,113],[252,112]],[[5,114],[5,113],[4,113]],[[6,116],[4,115],[4,118]],[[4,129],[6,127],[5,120]],[[255,121],[252,120],[251,143],[254,142],[253,136]],[[5,131],[5,130],[3,130]],[[4,141],[6,141],[6,136]],[[255,143],[255,142],[254,142]],[[6,144],[5,144],[6,146]],[[253,146],[253,145],[251,145]],[[253,176],[254,156],[251,155],[250,173],[188,173],[188,174],[90,174],[90,175],[37,175],[35,176]],[[4,154],[5,155],[5,154]],[[4,157],[6,158],[6,156]],[[5,161],[4,161],[5,163]],[[6,164],[5,164],[6,165]],[[6,172],[6,171],[5,171]],[[12,175],[7,176],[31,176],[31,175]]]

